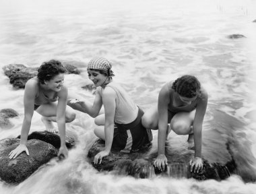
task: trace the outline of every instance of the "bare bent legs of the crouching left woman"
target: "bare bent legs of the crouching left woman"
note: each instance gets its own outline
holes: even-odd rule
[[[44,123],[46,130],[50,132],[57,131],[53,125],[56,122],[57,115],[57,102],[47,103],[40,105],[36,112],[42,115],[42,122]],[[66,107],[65,120],[66,123],[70,123],[75,119],[75,112],[69,106]]]

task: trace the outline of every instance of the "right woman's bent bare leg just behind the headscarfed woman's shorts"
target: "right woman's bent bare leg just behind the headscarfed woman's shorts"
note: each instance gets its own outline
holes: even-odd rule
[[[158,107],[153,106],[141,117],[143,127],[147,129],[158,129]]]

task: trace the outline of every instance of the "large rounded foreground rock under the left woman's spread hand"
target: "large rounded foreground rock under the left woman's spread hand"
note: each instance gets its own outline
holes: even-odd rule
[[[19,139],[7,138],[0,140],[0,179],[6,183],[18,184],[28,178],[42,164],[57,156],[57,149],[51,144],[37,139],[28,140],[25,152],[15,159],[9,159],[9,152],[20,143]]]

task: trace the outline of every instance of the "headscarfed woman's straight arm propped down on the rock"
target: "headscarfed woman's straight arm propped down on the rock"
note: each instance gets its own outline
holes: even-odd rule
[[[106,88],[104,90],[104,94],[102,94],[102,100],[104,104],[105,110],[105,125],[104,125],[104,132],[105,132],[105,149],[102,152],[99,152],[94,156],[94,163],[97,164],[98,160],[99,164],[102,162],[102,158],[104,156],[108,156],[110,153],[113,137],[114,137],[114,117],[115,117],[115,102],[116,94],[112,88]]]

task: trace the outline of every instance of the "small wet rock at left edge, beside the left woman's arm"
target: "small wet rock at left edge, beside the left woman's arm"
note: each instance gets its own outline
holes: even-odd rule
[[[17,117],[19,114],[11,108],[4,108],[0,110],[0,127],[9,128],[13,124],[9,121],[9,118]]]

